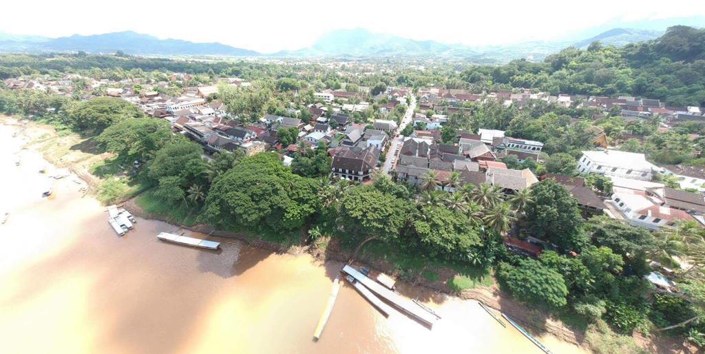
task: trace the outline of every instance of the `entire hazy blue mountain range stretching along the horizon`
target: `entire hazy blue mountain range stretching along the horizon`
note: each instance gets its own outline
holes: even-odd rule
[[[613,28],[594,37],[579,40],[537,41],[486,47],[446,44],[433,40],[419,41],[364,29],[333,30],[317,39],[311,47],[295,51],[261,54],[226,44],[195,43],[180,39],[159,39],[133,31],[103,35],[72,35],[48,38],[0,33],[0,52],[75,52],[113,54],[123,51],[135,55],[166,56],[267,56],[295,58],[443,58],[477,63],[501,63],[512,59],[541,60],[565,47],[584,48],[599,40],[602,44],[622,46],[654,39],[662,30]]]

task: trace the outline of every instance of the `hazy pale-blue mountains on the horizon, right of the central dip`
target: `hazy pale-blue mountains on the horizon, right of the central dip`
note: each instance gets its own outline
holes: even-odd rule
[[[498,46],[468,47],[464,44],[444,44],[417,41],[364,29],[334,30],[320,37],[311,47],[295,51],[280,51],[270,56],[293,57],[407,57],[467,59],[479,63],[501,63],[513,59],[544,59],[565,47],[587,47],[599,40],[605,45],[625,44],[655,39],[663,34],[656,30],[615,28],[580,41],[536,41]]]

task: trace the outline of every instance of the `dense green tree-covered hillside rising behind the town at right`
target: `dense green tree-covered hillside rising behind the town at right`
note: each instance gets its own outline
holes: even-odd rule
[[[540,63],[472,66],[460,74],[479,87],[532,87],[552,94],[620,94],[661,99],[671,106],[705,105],[705,30],[675,26],[665,35],[625,47],[594,42]]]

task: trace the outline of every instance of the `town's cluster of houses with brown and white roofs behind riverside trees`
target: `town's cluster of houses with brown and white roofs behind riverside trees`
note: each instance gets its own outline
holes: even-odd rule
[[[169,78],[176,81],[188,79],[186,74],[173,74]],[[219,92],[218,85],[250,85],[238,78],[220,79],[218,85],[187,87],[177,97],[159,93],[159,87],[168,85],[166,82],[143,83],[139,79],[112,82],[82,78],[75,74],[66,75],[62,80],[13,78],[5,80],[5,85],[11,90],[32,89],[71,95],[76,80],[85,80],[87,84],[82,90],[87,93],[81,99],[97,95],[121,97],[139,105],[145,114],[169,121],[176,132],[199,142],[209,152],[241,149],[245,154],[252,155],[275,150],[282,154],[283,164],[288,165],[302,145],[316,149],[321,142],[325,142],[329,148],[327,153],[332,157],[331,174],[360,183],[370,181],[374,171],[381,168],[380,160],[384,155],[391,157],[388,172],[399,183],[420,185],[424,178],[433,173],[439,188],[451,193],[461,184],[486,183],[511,194],[551,178],[565,185],[586,214],[607,214],[651,230],[671,227],[686,220],[705,224],[705,200],[701,194],[705,193],[703,169],[680,165],[656,166],[647,161],[644,154],[608,149],[605,133],[596,126],[589,128],[595,136],[595,149],[583,152],[577,170],[581,176],[577,177],[552,173],[536,176],[530,169],[508,169],[500,161],[508,155],[514,155],[519,162],[541,162],[544,144],[506,136],[502,130],[481,128],[476,132],[458,131],[458,143],[441,142],[441,128],[448,123],[451,114],[466,109],[462,106],[464,102],[483,104],[497,100],[501,104],[522,107],[532,100],[543,100],[566,107],[588,106],[599,111],[618,111],[627,121],[656,117],[661,124],[660,129],[668,129],[670,125],[682,121],[705,121],[705,109],[697,106],[671,107],[656,99],[635,97],[552,96],[530,90],[474,94],[467,90],[428,88],[413,93],[405,87],[388,87],[385,92],[369,97],[369,87],[358,87],[357,92],[315,92],[315,102],[306,108],[311,116],[309,121],[265,114],[259,121],[243,125],[228,114],[221,101],[212,99]],[[400,105],[407,109],[412,96],[418,98],[419,111],[415,114],[407,112],[409,116],[405,122],[400,121],[398,116],[396,119],[375,119],[366,123],[353,121],[355,112],[365,111],[375,102],[382,102],[377,104],[381,117]],[[366,98],[371,102],[366,102]],[[429,110],[433,110],[432,114],[426,114]],[[300,112],[294,109],[289,109],[288,113],[300,116]],[[414,130],[409,136],[400,137],[398,133],[405,124],[422,126],[424,130]],[[298,132],[294,143],[283,146],[277,134],[283,128],[293,128]],[[613,193],[599,195],[596,190],[587,187],[584,176],[589,173],[610,178]],[[654,181],[660,175],[678,178],[682,190]],[[686,189],[694,192],[687,192]],[[537,246],[532,241],[542,242],[531,238],[528,243],[517,239],[507,242],[508,247],[517,252],[532,254],[537,252]]]

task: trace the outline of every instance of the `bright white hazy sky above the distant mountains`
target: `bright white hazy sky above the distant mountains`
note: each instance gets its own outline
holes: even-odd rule
[[[9,0],[2,8],[0,32],[61,37],[134,30],[262,52],[307,47],[338,28],[488,45],[560,39],[605,24],[705,16],[705,0]]]

